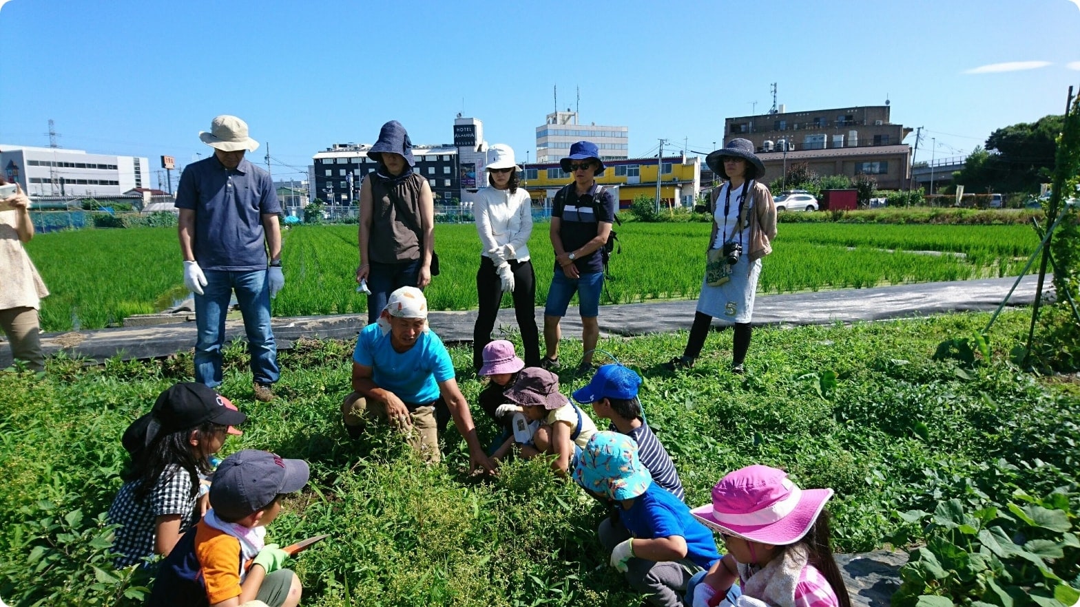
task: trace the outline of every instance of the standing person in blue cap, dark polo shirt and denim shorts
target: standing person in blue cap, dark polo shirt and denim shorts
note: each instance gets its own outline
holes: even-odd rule
[[[543,338],[546,355],[540,366],[551,369],[558,364],[559,322],[566,315],[570,298],[578,294],[581,311],[581,341],[584,356],[578,373],[592,366],[593,350],[600,336],[600,292],[604,291],[604,259],[600,248],[607,243],[615,220],[617,201],[610,190],[596,184],[604,172],[596,144],[578,141],[570,156],[561,161],[563,171],[573,175],[573,183],[558,190],[551,210],[549,237],[555,248],[555,273],[548,289],[543,311]]]

